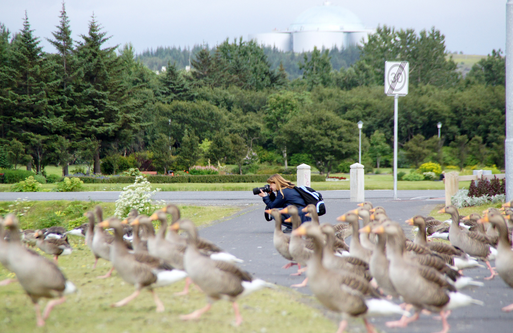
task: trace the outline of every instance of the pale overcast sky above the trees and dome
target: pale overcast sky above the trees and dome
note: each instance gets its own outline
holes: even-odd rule
[[[24,12],[45,51],[44,37],[58,24],[61,0],[0,0],[0,22],[9,30],[22,28]],[[350,9],[367,28],[378,25],[430,29],[446,37],[450,51],[488,54],[505,46],[506,0],[332,0]],[[87,33],[94,11],[112,38],[110,45],[131,42],[137,53],[157,46],[210,45],[226,37],[286,29],[304,10],[323,0],[68,0],[66,10],[73,37]]]

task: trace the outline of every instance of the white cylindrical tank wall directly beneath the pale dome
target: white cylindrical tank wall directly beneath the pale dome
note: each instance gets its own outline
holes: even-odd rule
[[[346,46],[344,34],[342,31],[295,31],[292,33],[293,49],[294,52],[309,52],[314,46],[319,50],[334,46],[342,49]]]

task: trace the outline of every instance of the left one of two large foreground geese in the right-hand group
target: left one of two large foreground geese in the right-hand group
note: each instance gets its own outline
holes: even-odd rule
[[[307,222],[292,231],[292,237],[301,236],[311,238],[314,244],[314,252],[308,259],[308,285],[313,295],[326,308],[339,312],[344,317],[362,318],[369,333],[375,333],[376,330],[367,321],[367,316],[409,314],[399,305],[376,298],[376,296],[366,299],[364,293],[371,289],[368,283],[365,284],[367,281],[354,278],[344,271],[327,269],[322,264],[323,234],[318,226]],[[344,318],[340,322],[337,332],[342,333],[347,324],[347,319]]]

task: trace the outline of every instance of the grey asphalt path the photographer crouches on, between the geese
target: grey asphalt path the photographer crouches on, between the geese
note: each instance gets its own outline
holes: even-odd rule
[[[336,217],[340,214],[356,207],[347,199],[328,199],[331,192],[324,193],[326,198],[327,213],[321,217],[321,222],[336,223]],[[371,191],[373,192],[373,191]],[[388,198],[373,198],[371,201],[375,205],[385,207],[391,219],[404,222],[415,214],[427,214],[437,204],[443,204],[441,199],[430,200],[409,200],[412,197],[430,197],[426,194],[418,195],[415,191],[402,194],[401,201],[391,201]],[[336,196],[336,195],[333,195]],[[384,197],[385,195],[383,195]],[[369,199],[368,197],[366,199]],[[263,204],[253,205],[244,209],[238,216],[224,222],[205,227],[200,230],[200,234],[227,251],[244,259],[246,262],[242,266],[259,278],[269,282],[284,286],[300,283],[304,276],[291,277],[289,274],[295,272],[295,268],[282,269],[287,263],[280,254],[274,249],[272,244],[273,222],[265,221],[263,217]],[[412,227],[404,226],[406,233],[412,236]],[[493,263],[492,263],[493,265]],[[489,275],[486,269],[467,269],[465,275],[479,281]],[[463,292],[471,295],[473,298],[485,302],[484,306],[472,305],[459,308],[452,311],[448,322],[451,326],[451,332],[511,332],[513,331],[513,314],[506,314],[501,311],[501,307],[513,303],[513,289],[509,288],[499,277],[492,281],[484,281],[483,287],[467,288]],[[310,293],[308,287],[299,288],[300,292]],[[436,332],[441,330],[442,325],[438,320],[431,316],[421,315],[421,318],[411,323],[407,328],[387,328],[385,322],[396,320],[397,318],[376,318],[372,322],[376,324],[380,331],[385,332]],[[364,327],[360,321],[350,324],[349,331],[363,331]]]

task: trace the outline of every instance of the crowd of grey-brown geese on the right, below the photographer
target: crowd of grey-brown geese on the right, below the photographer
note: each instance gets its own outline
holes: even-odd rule
[[[367,317],[401,314],[400,320],[389,321],[386,326],[406,327],[422,311],[439,312],[443,325],[440,333],[447,333],[452,309],[483,305],[459,292],[467,286],[484,285],[464,276],[463,269],[485,267],[478,261],[485,262],[490,270],[485,280],[499,275],[513,287],[512,204],[504,204],[503,212],[488,208],[483,217],[477,213],[463,217],[456,207],[446,206],[439,213],[450,214],[451,218],[444,222],[417,215],[406,221],[418,227],[413,241],[406,238],[399,223],[387,217],[383,207],[373,208],[370,202],[358,204],[357,209],[338,217],[341,223],[336,225],[320,224],[313,205],[303,209],[312,220],[303,224],[295,206],[266,212],[275,220],[274,246],[290,261],[284,268],[297,264],[294,275],[306,270],[303,283],[292,287],[308,285],[326,308],[343,315],[337,333],[344,331],[348,317],[362,318],[367,332],[375,333]],[[286,220],[292,223],[290,236],[281,230],[283,213],[290,214]],[[363,227],[359,220],[363,220]],[[349,236],[347,246],[345,239]],[[450,244],[428,238],[445,238]],[[495,269],[490,260],[495,260]],[[390,302],[394,298],[403,303]],[[502,310],[513,310],[513,304]]]

